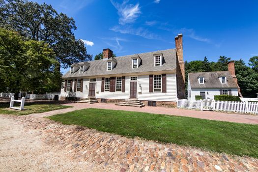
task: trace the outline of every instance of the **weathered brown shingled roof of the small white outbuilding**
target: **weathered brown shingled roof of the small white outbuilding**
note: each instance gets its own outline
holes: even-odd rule
[[[226,77],[227,83],[221,83],[220,77]],[[204,78],[204,84],[200,84],[198,78]],[[188,73],[191,88],[237,88],[229,71],[195,72]]]

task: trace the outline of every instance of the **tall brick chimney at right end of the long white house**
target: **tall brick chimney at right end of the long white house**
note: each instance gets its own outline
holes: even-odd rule
[[[183,59],[183,34],[178,34],[175,38],[176,52],[176,86],[177,97],[184,98],[185,96],[185,63]]]

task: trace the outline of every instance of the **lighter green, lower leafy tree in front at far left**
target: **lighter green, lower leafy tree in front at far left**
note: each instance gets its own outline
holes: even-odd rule
[[[43,41],[29,40],[0,28],[0,90],[45,93],[60,88],[61,73],[55,53]]]

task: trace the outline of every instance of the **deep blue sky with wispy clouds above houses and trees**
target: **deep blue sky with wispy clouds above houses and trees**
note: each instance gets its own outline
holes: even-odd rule
[[[184,60],[258,56],[257,0],[35,0],[75,19],[77,39],[93,57],[174,48],[183,33]],[[62,72],[68,69],[62,69]]]

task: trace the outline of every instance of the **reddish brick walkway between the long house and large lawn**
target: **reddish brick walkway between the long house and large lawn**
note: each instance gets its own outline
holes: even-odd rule
[[[166,115],[178,115],[178,116],[189,116],[202,119],[211,120],[221,120],[229,122],[247,123],[247,124],[258,124],[258,115],[240,115],[240,114],[229,114],[221,112],[212,111],[194,111],[194,110],[184,110],[177,108],[166,108],[166,107],[149,107],[145,106],[143,108],[128,107],[128,106],[117,106],[113,103],[69,103],[65,104],[68,106],[74,106],[74,108],[61,109],[41,114],[32,114],[32,116],[51,116],[56,114],[61,114],[65,112],[71,112],[73,110],[80,110],[86,108],[100,108],[100,109],[111,109],[111,110],[124,110],[124,111],[136,111],[136,112],[146,112],[153,114],[166,114]]]

